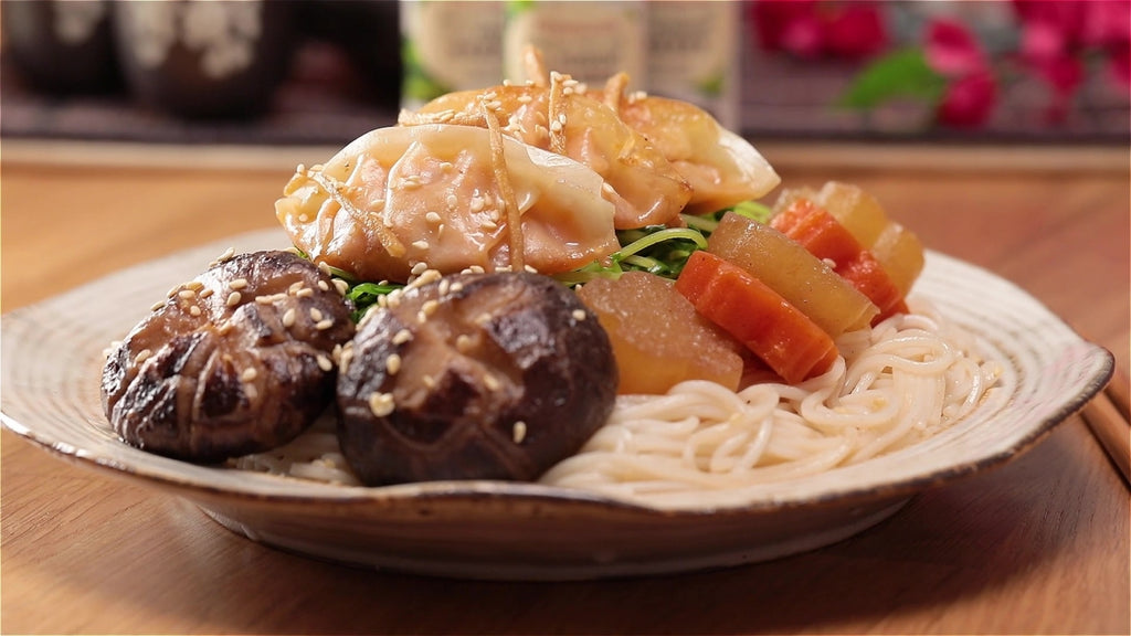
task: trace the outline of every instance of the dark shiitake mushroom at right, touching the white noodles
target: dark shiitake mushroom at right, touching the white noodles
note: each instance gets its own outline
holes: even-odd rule
[[[608,337],[573,292],[527,273],[406,290],[342,355],[338,438],[366,484],[533,480],[604,423]]]

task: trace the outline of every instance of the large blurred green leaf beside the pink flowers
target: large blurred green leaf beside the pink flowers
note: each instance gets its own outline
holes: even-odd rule
[[[926,63],[922,50],[905,49],[884,55],[856,76],[838,104],[869,110],[895,97],[915,97],[935,102],[942,95],[947,78]]]

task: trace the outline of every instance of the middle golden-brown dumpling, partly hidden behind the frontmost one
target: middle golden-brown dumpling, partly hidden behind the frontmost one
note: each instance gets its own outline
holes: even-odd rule
[[[421,115],[476,119],[481,97],[489,96],[506,135],[550,149],[551,91],[539,85],[501,85],[449,93],[402,118],[402,123]],[[562,154],[588,165],[608,183],[616,229],[679,224],[691,187],[664,154],[597,100],[571,89],[563,91],[562,100],[564,122],[558,122],[566,144]]]

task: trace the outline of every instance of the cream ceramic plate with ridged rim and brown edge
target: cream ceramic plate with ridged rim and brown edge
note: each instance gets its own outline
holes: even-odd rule
[[[916,293],[1007,367],[1004,390],[923,444],[767,489],[734,505],[661,510],[539,484],[345,488],[196,466],[131,448],[100,403],[102,351],[174,283],[262,231],[133,267],[2,317],[3,424],[54,455],[187,498],[252,540],[353,565],[444,576],[571,579],[684,571],[826,545],[916,492],[1017,456],[1107,381],[1111,354],[1015,285],[929,252]]]

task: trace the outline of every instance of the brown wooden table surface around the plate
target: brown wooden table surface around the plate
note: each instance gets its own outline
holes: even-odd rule
[[[201,149],[130,149],[130,161],[8,151],[3,311],[270,226],[291,167],[327,157],[277,149],[240,164]],[[1007,149],[996,161],[970,149],[762,151],[787,184],[863,186],[929,247],[1018,283],[1128,367],[1125,148]],[[1131,631],[1128,487],[1077,416],[1005,466],[929,490],[823,549],[554,584],[405,576],[283,553],[10,431],[0,444],[5,634]]]

